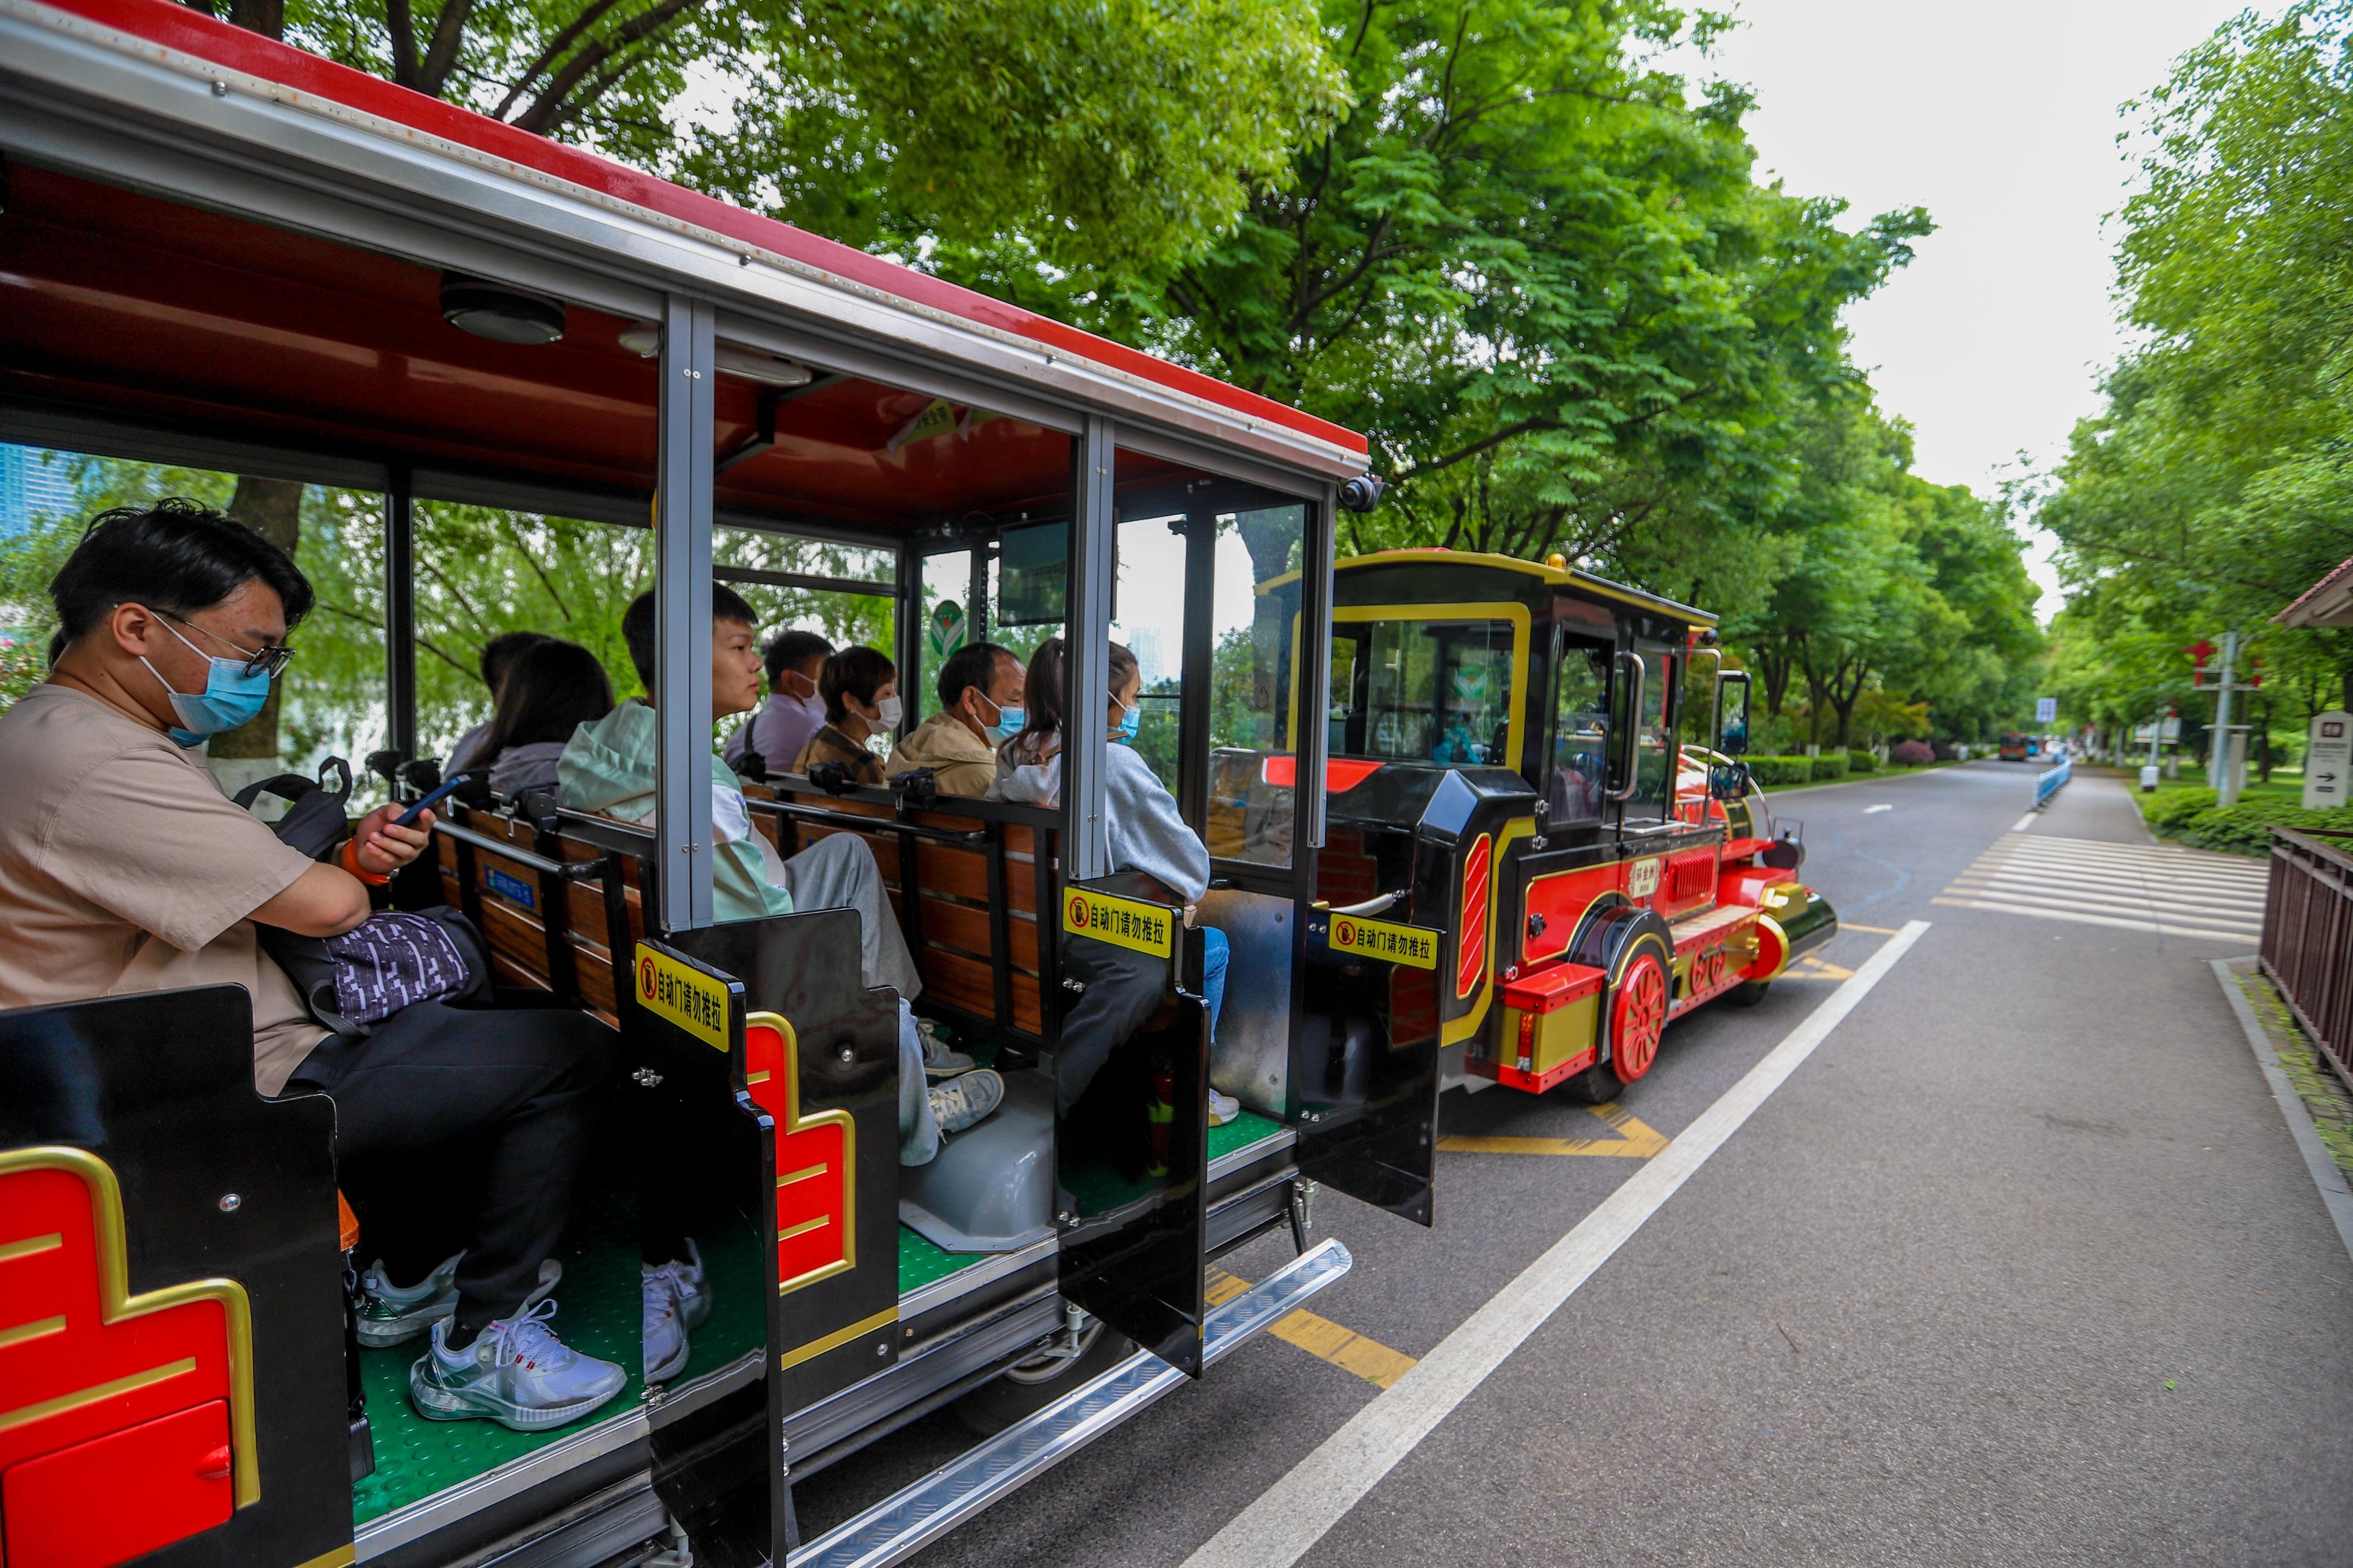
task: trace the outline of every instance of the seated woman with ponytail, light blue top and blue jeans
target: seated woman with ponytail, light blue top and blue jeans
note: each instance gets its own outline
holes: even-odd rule
[[[1104,748],[1104,827],[1111,837],[1111,870],[1144,872],[1184,905],[1186,926],[1195,903],[1209,891],[1209,851],[1186,827],[1176,797],[1134,750],[1144,710],[1136,689],[1144,684],[1136,656],[1111,644],[1111,693],[1104,726],[1113,745]],[[1031,656],[1028,722],[998,755],[1002,799],[1061,804],[1061,691],[1064,646],[1052,637]],[[1217,1016],[1226,1006],[1226,966],[1233,947],[1217,926],[1200,926],[1202,999],[1209,1006],[1209,1037],[1217,1039]],[[1099,943],[1092,936],[1064,940],[1064,969],[1087,990],[1061,1023],[1061,1051],[1054,1056],[1054,1086],[1061,1112],[1078,1105],[1111,1051],[1127,1041],[1160,1006],[1169,985],[1167,959],[1132,947]],[[1242,1114],[1242,1103],[1209,1088],[1209,1126],[1226,1126]]]

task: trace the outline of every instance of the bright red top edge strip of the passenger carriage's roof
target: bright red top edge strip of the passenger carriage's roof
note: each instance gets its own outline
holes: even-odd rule
[[[261,38],[259,33],[247,33],[233,24],[174,5],[172,0],[45,0],[45,5],[99,26],[129,33],[132,38],[151,45],[193,54],[195,59],[226,71],[240,71],[245,75],[278,82],[280,87],[292,87],[294,92],[327,99],[381,120],[393,120],[409,129],[454,141],[492,158],[518,162],[527,169],[536,169],[539,174],[659,212],[680,223],[694,223],[727,235],[729,240],[758,244],[760,249],[821,268],[838,277],[847,277],[849,282],[894,294],[904,301],[955,315],[979,327],[993,327],[998,331],[1031,339],[1045,348],[1092,360],[1106,369],[1153,381],[1174,393],[1214,402],[1235,414],[1261,418],[1266,423],[1282,425],[1285,430],[1297,430],[1299,435],[1329,442],[1346,451],[1369,451],[1369,442],[1355,430],[1315,418],[1313,414],[1304,414],[1285,402],[1275,402],[1273,397],[1247,393],[1238,386],[1219,381],[1217,376],[1205,376],[1195,369],[1160,360],[1158,355],[1127,348],[1125,343],[1099,339],[1092,331],[1080,331],[1078,327],[1021,310],[1019,306],[1007,306],[1000,299],[962,289],[953,282],[904,268],[894,261],[868,256],[861,249],[812,235],[802,228],[793,228],[791,223],[744,212],[741,207],[732,207],[718,197],[687,190],[685,186],[673,186],[666,179],[616,165],[609,158],[600,158],[584,148],[534,136],[532,132],[515,129],[513,125],[492,120],[489,115],[480,115],[471,108],[428,99],[426,94],[407,87],[395,87],[393,82],[367,75],[365,71],[353,71],[306,49]]]

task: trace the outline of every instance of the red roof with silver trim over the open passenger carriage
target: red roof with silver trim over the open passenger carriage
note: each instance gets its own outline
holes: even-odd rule
[[[0,59],[12,414],[642,491],[652,364],[619,341],[694,296],[722,346],[831,371],[788,395],[774,451],[722,473],[722,508],[913,520],[976,491],[1066,496],[1087,416],[1115,423],[1122,484],[1155,437],[1318,480],[1367,463],[1362,435],[1301,409],[169,0],[7,0]],[[442,273],[562,299],[572,327],[551,346],[452,341]],[[720,442],[746,442],[762,386],[720,374]],[[374,418],[395,383],[412,409],[438,397],[442,428]],[[934,397],[955,409],[955,484],[908,451]],[[24,418],[5,435],[45,428],[71,435]]]

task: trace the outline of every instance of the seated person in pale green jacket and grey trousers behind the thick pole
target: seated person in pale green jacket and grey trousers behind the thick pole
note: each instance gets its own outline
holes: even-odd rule
[[[760,703],[758,616],[725,583],[711,585],[711,722],[751,712]],[[621,616],[621,637],[638,679],[654,689],[654,595],[642,592]],[[558,762],[562,799],[574,811],[602,811],[626,823],[654,818],[656,719],[645,698],[631,698],[595,724],[581,724]],[[718,919],[758,919],[793,910],[856,910],[866,985],[899,992],[899,1164],[922,1166],[939,1154],[941,1135],[960,1133],[1005,1100],[1005,1079],[974,1070],[915,1027],[906,999],[922,992],[915,959],[882,891],[866,839],[838,832],[781,858],[751,825],[744,785],[711,759],[711,858]],[[948,1079],[925,1088],[925,1074]],[[647,1382],[687,1363],[687,1326],[711,1305],[701,1258],[682,1234],[654,1220],[645,1237],[645,1361]],[[661,1371],[656,1371],[661,1368]]]

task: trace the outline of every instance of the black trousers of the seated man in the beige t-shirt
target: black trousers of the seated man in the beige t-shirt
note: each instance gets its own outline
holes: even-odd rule
[[[334,1095],[336,1180],[395,1284],[466,1248],[459,1321],[511,1314],[555,1253],[616,1039],[572,1009],[419,1001],[318,1044],[289,1088]]]

